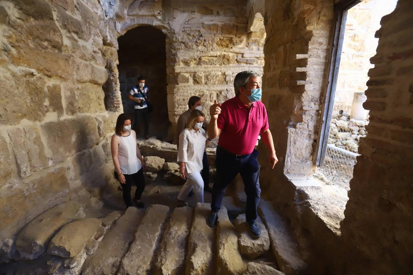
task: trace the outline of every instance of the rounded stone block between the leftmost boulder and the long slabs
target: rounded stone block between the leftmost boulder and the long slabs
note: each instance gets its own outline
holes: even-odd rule
[[[95,236],[100,223],[99,219],[89,218],[66,224],[50,241],[47,253],[63,258],[77,256]]]

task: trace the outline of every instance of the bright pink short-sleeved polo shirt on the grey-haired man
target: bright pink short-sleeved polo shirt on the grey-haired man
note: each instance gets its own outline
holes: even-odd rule
[[[217,124],[221,129],[218,145],[234,155],[247,155],[254,150],[260,132],[268,129],[267,110],[261,101],[249,109],[235,96],[222,103]]]

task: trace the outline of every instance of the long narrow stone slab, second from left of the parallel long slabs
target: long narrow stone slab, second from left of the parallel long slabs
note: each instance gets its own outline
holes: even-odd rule
[[[123,256],[118,274],[150,274],[168,213],[169,207],[161,204],[152,204],[146,210],[131,247]]]

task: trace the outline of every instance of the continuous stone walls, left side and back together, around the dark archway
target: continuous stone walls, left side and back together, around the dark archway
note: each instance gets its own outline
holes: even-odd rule
[[[265,33],[247,31],[246,4],[0,3],[1,261],[10,259],[14,235],[28,221],[65,200],[101,199],[114,180],[109,139],[123,111],[117,38],[142,25],[166,35],[174,127],[191,95],[201,96],[207,109],[234,95],[239,71],[262,73]]]

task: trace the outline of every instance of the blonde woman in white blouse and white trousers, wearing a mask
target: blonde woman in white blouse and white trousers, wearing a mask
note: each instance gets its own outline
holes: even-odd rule
[[[192,189],[195,189],[197,201],[204,202],[204,181],[201,176],[202,158],[207,141],[207,134],[202,129],[204,119],[204,113],[193,110],[186,128],[179,135],[179,172],[187,178],[178,195],[181,204],[185,204],[185,199]]]

